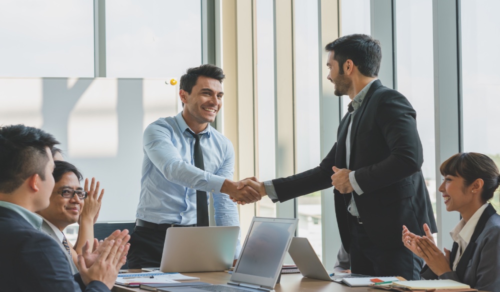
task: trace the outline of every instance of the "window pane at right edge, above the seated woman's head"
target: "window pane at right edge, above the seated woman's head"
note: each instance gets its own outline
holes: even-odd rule
[[[500,59],[497,0],[461,0],[463,151],[486,154],[500,166]],[[498,192],[491,203],[500,210]]]

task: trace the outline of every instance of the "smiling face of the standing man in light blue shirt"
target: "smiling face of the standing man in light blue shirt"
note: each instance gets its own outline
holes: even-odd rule
[[[215,120],[222,107],[222,84],[217,79],[199,76],[192,87],[191,94],[180,90],[180,99],[184,103],[182,117],[193,130],[202,131],[207,123]]]

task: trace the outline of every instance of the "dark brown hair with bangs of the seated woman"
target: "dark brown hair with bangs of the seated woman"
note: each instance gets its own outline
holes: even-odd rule
[[[465,187],[470,186],[476,179],[482,179],[481,199],[486,203],[493,198],[493,193],[500,184],[498,167],[491,158],[484,154],[474,152],[457,153],[439,167],[441,175],[460,176]]]

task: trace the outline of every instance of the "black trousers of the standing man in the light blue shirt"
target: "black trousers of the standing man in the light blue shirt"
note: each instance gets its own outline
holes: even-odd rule
[[[154,230],[135,225],[130,234],[127,254],[128,269],[159,268],[166,230]]]

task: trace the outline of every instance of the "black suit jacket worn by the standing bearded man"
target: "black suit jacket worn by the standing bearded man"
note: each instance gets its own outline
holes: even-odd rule
[[[402,225],[424,235],[423,224],[437,232],[429,194],[420,167],[422,145],[416,113],[399,92],[375,80],[352,117],[349,169],[363,191],[354,200],[370,239],[379,247],[402,246]],[[345,139],[349,114],[340,121],[337,142],[311,170],[272,181],[280,202],[331,187],[333,166],[346,168]],[[342,244],[350,247],[347,211],[351,195],[333,191]]]

